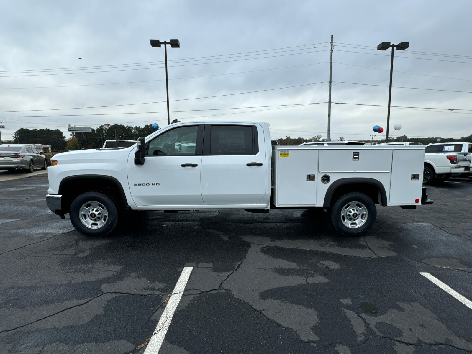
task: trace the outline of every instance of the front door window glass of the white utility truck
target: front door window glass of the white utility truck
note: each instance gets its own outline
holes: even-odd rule
[[[179,126],[168,130],[147,143],[147,156],[195,155],[198,126]]]

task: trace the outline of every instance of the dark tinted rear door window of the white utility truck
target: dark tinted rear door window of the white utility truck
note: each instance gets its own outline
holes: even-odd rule
[[[255,126],[211,126],[211,155],[253,155],[258,152]]]

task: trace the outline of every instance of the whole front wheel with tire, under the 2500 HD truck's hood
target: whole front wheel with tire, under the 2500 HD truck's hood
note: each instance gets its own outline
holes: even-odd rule
[[[118,208],[100,192],[80,194],[70,206],[70,221],[78,232],[89,237],[108,235],[118,222]]]

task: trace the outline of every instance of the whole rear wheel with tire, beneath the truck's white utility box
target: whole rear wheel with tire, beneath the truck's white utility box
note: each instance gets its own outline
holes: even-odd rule
[[[366,194],[352,192],[341,195],[329,214],[337,232],[344,236],[362,236],[374,224],[377,209]]]

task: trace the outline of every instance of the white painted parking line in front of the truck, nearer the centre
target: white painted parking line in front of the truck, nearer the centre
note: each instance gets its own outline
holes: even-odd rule
[[[185,290],[185,285],[187,284],[188,278],[190,278],[190,273],[192,273],[192,267],[184,267],[182,273],[180,273],[180,278],[177,280],[177,284],[172,291],[172,295],[169,298],[166,308],[162,315],[160,316],[159,323],[157,324],[156,329],[152,333],[149,344],[144,351],[144,354],[157,354],[159,352],[162,342],[166,337],[167,330],[170,326],[170,321],[174,312],[176,311],[177,305],[180,302],[180,298]]]

